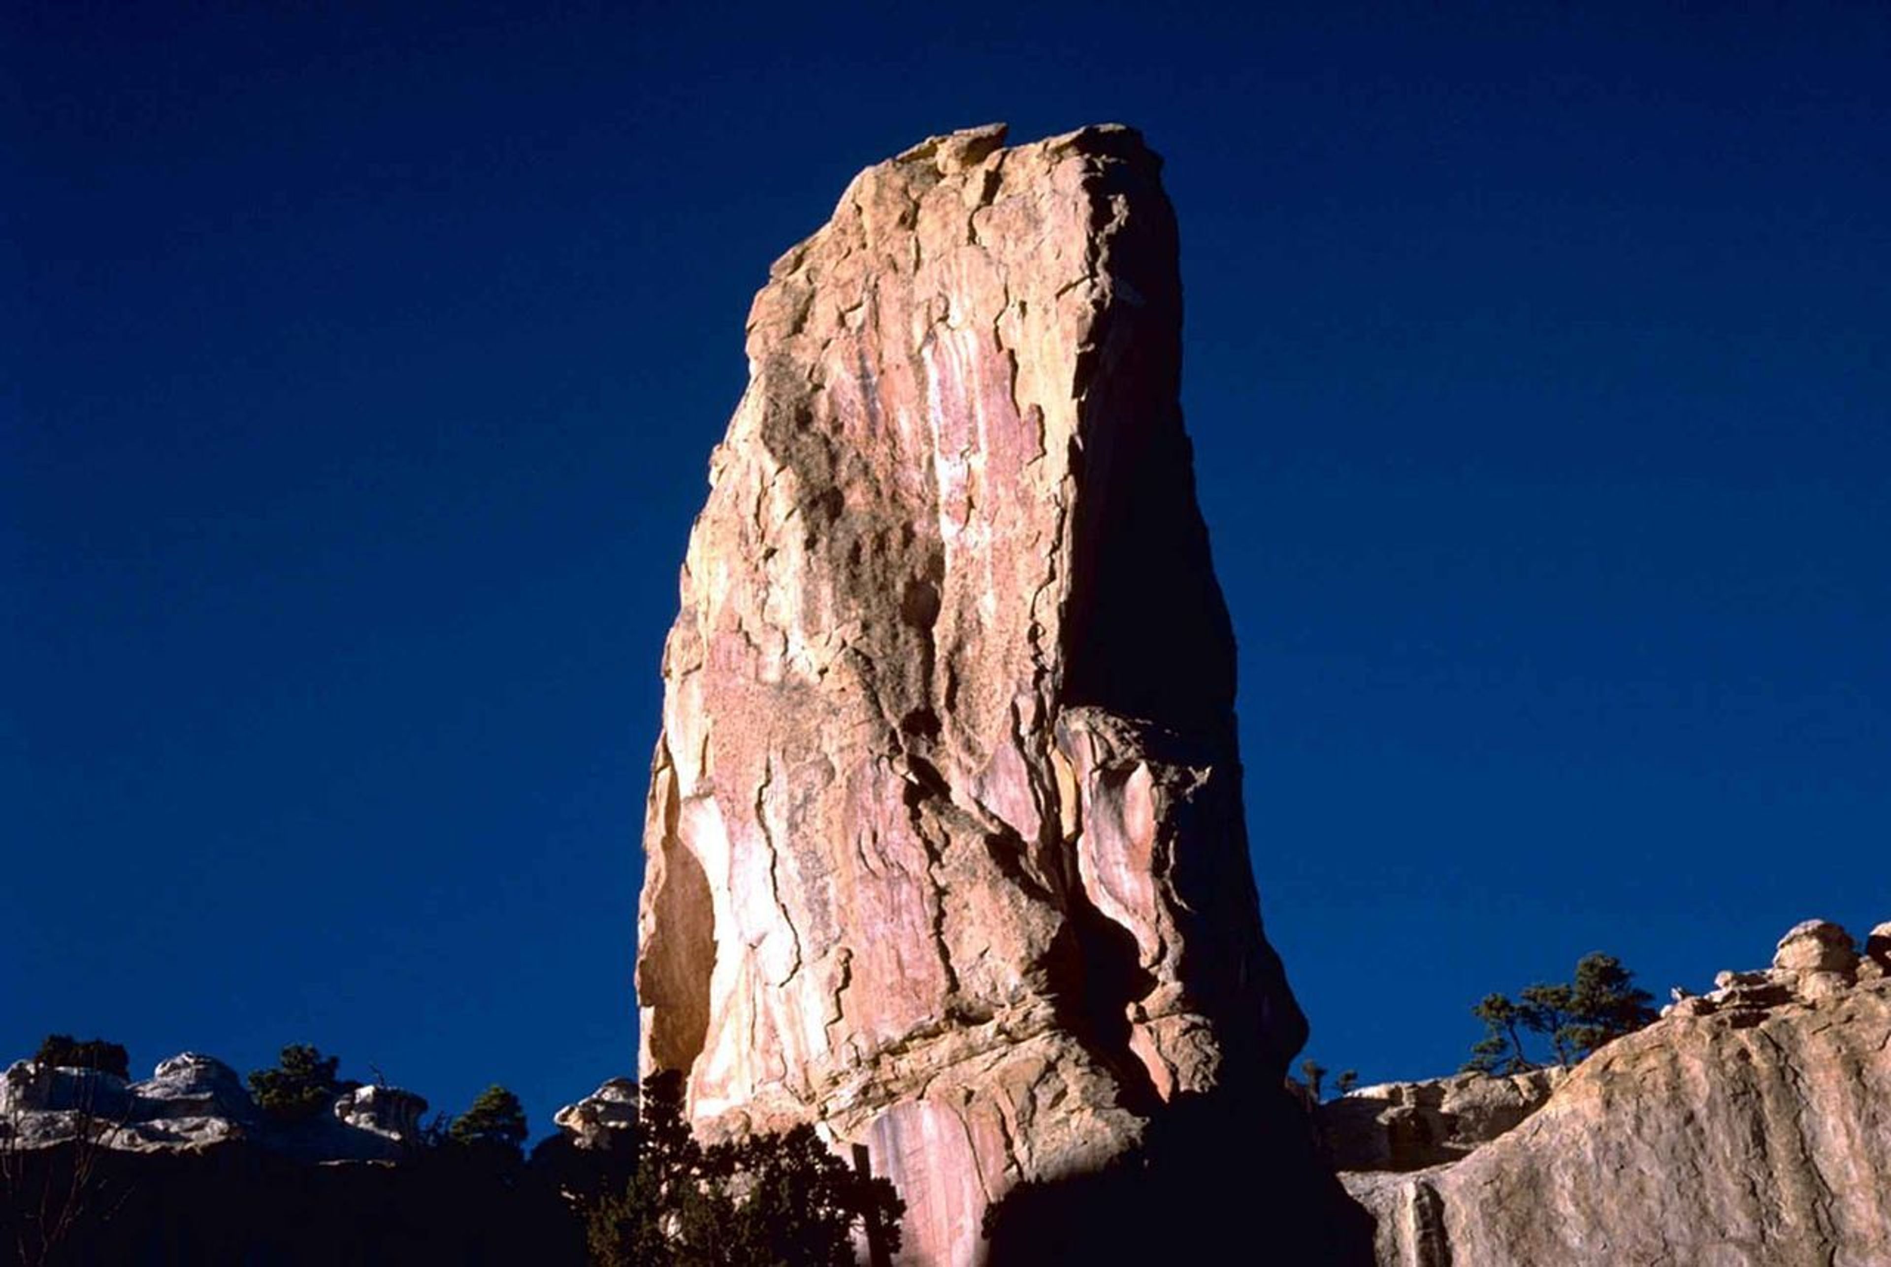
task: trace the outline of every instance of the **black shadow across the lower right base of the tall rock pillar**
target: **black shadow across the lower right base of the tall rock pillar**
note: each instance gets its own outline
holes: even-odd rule
[[[1110,1167],[1023,1184],[985,1216],[991,1267],[1373,1267],[1373,1220],[1320,1161],[1286,1093],[1182,1097]]]

